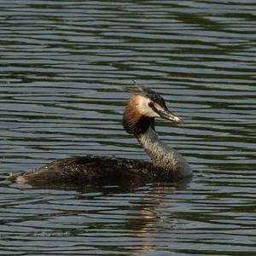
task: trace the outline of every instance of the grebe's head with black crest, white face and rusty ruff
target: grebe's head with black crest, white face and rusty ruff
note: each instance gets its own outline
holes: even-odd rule
[[[123,125],[128,133],[143,133],[149,126],[154,129],[154,118],[158,117],[177,124],[183,122],[167,109],[165,100],[154,90],[143,85],[126,90],[131,92],[131,99],[123,116]]]

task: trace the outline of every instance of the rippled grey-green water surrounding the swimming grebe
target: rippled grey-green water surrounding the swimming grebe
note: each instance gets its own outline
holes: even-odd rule
[[[0,1],[1,255],[255,255],[256,3]],[[191,181],[37,189],[69,155],[148,160],[120,123],[148,85]]]

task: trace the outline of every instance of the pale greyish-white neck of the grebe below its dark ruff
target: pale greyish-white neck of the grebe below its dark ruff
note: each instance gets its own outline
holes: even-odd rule
[[[137,135],[137,141],[142,144],[154,166],[164,168],[170,175],[177,177],[192,175],[190,166],[183,156],[166,143],[161,142],[150,126],[146,132]]]

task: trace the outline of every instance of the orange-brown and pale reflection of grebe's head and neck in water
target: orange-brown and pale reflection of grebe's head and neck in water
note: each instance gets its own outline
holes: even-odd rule
[[[132,236],[135,236],[137,241],[141,241],[137,247],[137,253],[147,253],[155,249],[151,242],[151,233],[160,234],[168,226],[169,229],[177,229],[177,218],[172,216],[164,216],[162,213],[166,211],[163,202],[166,195],[172,195],[177,189],[186,189],[190,179],[183,179],[176,183],[153,183],[152,188],[140,201],[133,206],[136,216],[129,219],[128,226],[131,229]],[[173,201],[175,202],[175,201]]]

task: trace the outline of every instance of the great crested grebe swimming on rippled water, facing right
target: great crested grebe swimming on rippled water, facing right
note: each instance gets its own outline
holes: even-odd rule
[[[154,118],[182,123],[166,108],[164,99],[143,85],[128,88],[130,101],[123,114],[126,132],[133,134],[152,163],[117,157],[82,156],[55,160],[34,171],[9,177],[16,183],[112,183],[172,180],[192,175],[187,161],[176,150],[160,141],[154,130]]]

